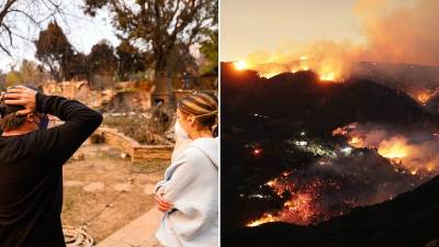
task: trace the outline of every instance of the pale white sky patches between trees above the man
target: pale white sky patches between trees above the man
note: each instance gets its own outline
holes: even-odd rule
[[[99,41],[105,38],[113,45],[117,45],[117,38],[110,23],[111,19],[108,11],[100,11],[97,18],[90,18],[82,13],[80,3],[82,1],[63,0],[65,12],[68,13],[65,19],[59,19],[58,24],[67,35],[71,45],[79,52],[89,53],[91,47]],[[47,26],[44,23],[44,26]],[[19,25],[24,25],[19,23]],[[37,38],[40,30],[22,26],[26,30],[24,33],[31,40]],[[0,70],[9,71],[11,65],[20,65],[23,58],[35,60],[35,46],[30,42],[16,40],[15,48],[12,49],[12,57],[0,53]]]

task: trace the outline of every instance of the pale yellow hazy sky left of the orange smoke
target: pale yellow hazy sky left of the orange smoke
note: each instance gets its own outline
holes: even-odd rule
[[[376,1],[376,0],[371,0]],[[357,0],[223,0],[221,59],[245,58],[256,50],[290,48],[316,41],[364,43]],[[394,1],[393,4],[407,2]]]

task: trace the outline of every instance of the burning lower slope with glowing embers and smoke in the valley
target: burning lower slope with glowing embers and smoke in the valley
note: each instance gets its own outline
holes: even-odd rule
[[[333,135],[345,141],[328,146],[301,136],[303,139],[288,142],[316,159],[262,184],[261,189],[272,190],[283,204],[247,226],[317,224],[353,207],[392,200],[439,173],[438,137],[427,131],[352,123],[334,130]]]

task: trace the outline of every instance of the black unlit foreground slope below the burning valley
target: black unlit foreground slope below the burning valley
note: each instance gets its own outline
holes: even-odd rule
[[[285,223],[268,223],[245,228],[224,246],[437,246],[439,220],[439,177],[393,201],[360,207],[350,214],[300,227]]]

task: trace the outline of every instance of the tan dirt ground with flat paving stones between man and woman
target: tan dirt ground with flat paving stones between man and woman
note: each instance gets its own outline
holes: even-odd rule
[[[99,243],[155,206],[154,186],[168,165],[133,165],[105,144],[85,144],[64,167],[63,224],[86,225]]]

